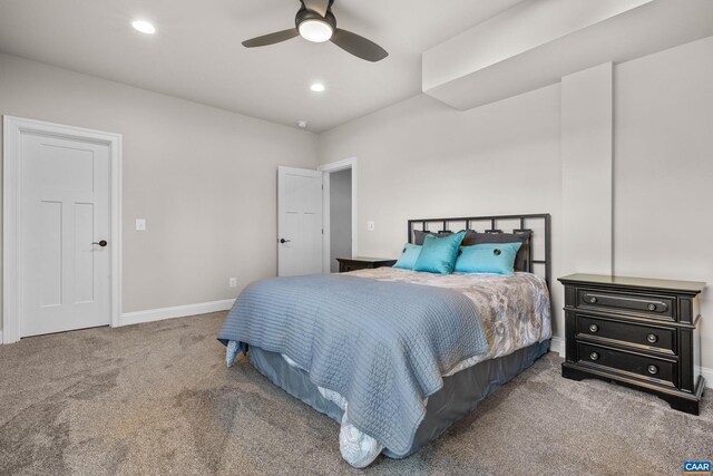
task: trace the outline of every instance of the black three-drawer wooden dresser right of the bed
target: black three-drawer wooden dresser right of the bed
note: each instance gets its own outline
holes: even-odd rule
[[[565,285],[563,377],[600,378],[699,415],[699,294],[705,283],[572,274]]]

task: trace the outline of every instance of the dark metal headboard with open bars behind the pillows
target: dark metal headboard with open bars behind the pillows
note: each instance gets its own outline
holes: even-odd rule
[[[463,224],[465,230],[476,230],[478,232],[485,233],[510,233],[508,231],[504,231],[498,226],[498,223],[501,222],[519,222],[519,227],[514,229],[511,233],[524,233],[524,232],[533,232],[533,235],[529,240],[529,245],[527,247],[526,255],[526,270],[527,272],[534,272],[535,265],[544,265],[545,266],[545,280],[547,281],[547,285],[549,286],[550,278],[551,278],[551,247],[550,247],[550,227],[549,227],[549,213],[539,213],[539,214],[530,214],[530,215],[494,215],[494,216],[461,216],[456,218],[419,218],[419,220],[409,220],[409,243],[413,243],[413,231],[431,231],[429,229],[429,224],[436,223],[439,226],[442,226],[440,230],[436,230],[436,232],[445,232],[452,231],[458,232],[459,230],[450,230],[451,223],[460,223]],[[544,231],[545,235],[539,236],[535,232],[535,230],[528,227],[528,223],[533,224],[533,222],[541,221],[544,222]],[[420,226],[420,229],[418,227]],[[545,256],[540,260],[534,259],[534,246],[533,243],[539,243],[540,240],[545,242]]]

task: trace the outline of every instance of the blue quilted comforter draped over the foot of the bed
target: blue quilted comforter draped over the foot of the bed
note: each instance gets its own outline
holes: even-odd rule
[[[343,396],[350,421],[395,455],[409,451],[442,375],[488,351],[466,295],[343,274],[248,285],[218,340],[287,356]]]

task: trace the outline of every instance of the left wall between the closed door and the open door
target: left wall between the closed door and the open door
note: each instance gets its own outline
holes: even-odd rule
[[[124,312],[275,275],[276,167],[316,165],[314,134],[6,55],[0,114],[124,135]]]

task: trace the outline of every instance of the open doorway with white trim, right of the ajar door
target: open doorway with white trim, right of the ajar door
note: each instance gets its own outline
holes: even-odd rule
[[[356,158],[325,164],[323,272],[339,271],[338,258],[356,255]]]

